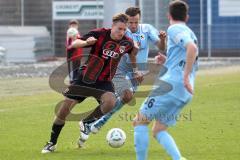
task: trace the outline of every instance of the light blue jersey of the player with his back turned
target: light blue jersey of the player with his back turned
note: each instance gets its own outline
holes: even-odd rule
[[[184,66],[186,63],[185,47],[189,42],[197,44],[197,38],[185,23],[170,26],[167,30],[167,35],[167,60],[164,66],[168,71],[160,79],[172,85],[173,89],[169,92],[170,95],[183,102],[187,102],[192,98],[192,95],[186,90],[183,84]],[[194,87],[197,67],[196,60],[189,77],[192,87]]]

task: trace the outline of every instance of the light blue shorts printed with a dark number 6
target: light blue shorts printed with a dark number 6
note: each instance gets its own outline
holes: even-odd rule
[[[172,126],[176,124],[179,114],[186,104],[169,94],[148,97],[142,104],[140,113],[150,121],[155,119],[166,126]]]

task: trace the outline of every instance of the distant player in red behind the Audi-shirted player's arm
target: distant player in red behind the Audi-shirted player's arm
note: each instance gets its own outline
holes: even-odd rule
[[[79,22],[76,19],[70,20],[68,24],[68,31],[66,35],[66,57],[68,64],[68,75],[70,84],[77,79],[79,75],[79,67],[81,65],[82,48],[71,48],[71,44],[74,40],[80,38],[78,32]],[[75,30],[74,30],[75,29]],[[72,31],[76,31],[75,35]]]

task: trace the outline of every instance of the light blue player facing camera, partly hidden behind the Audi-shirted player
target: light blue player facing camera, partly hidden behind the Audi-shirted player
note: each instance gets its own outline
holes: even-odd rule
[[[94,122],[89,128],[89,132],[97,133],[98,130],[111,118],[111,116],[118,111],[124,104],[133,99],[133,94],[137,86],[142,82],[143,75],[147,71],[147,60],[149,52],[149,43],[156,45],[160,50],[165,50],[166,33],[158,31],[150,24],[140,24],[141,11],[137,7],[130,7],[126,10],[128,15],[128,29],[126,35],[133,39],[135,46],[138,48],[137,53],[137,67],[133,68],[129,56],[123,56],[118,65],[116,74],[113,78],[113,83],[118,100],[114,109],[106,116],[103,116]],[[80,122],[80,128],[86,128]],[[83,146],[86,141],[79,141],[79,146]]]

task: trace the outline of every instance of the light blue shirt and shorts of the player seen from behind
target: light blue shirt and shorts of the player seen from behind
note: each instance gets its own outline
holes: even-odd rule
[[[183,77],[186,45],[189,42],[197,44],[197,38],[185,23],[171,25],[167,30],[167,35],[167,59],[164,64],[167,71],[159,77],[162,83],[154,85],[155,89],[142,104],[140,112],[149,120],[156,119],[166,126],[172,126],[176,123],[180,111],[192,99],[192,95],[184,87]],[[194,87],[196,70],[197,59],[189,77],[192,87]],[[171,89],[161,94],[160,91],[166,88],[166,84],[171,86]]]

